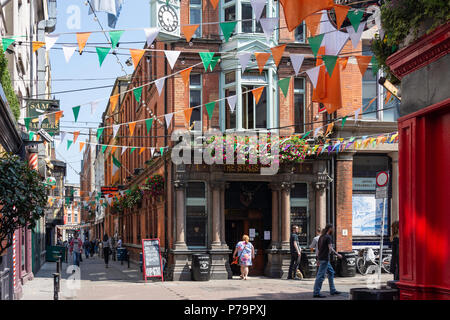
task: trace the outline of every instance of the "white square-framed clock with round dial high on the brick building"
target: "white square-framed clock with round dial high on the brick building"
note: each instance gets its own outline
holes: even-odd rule
[[[152,0],[150,11],[151,26],[159,28],[159,39],[180,38],[180,0]]]

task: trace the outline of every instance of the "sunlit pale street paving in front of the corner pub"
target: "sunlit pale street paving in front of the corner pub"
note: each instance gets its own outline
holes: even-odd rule
[[[166,281],[142,279],[139,266],[127,262],[110,261],[105,268],[98,256],[85,259],[79,272],[63,263],[60,300],[312,300],[314,279],[281,280],[266,277],[249,277],[241,280]],[[56,263],[47,262],[32,281],[23,286],[22,300],[53,300],[53,273]],[[322,285],[320,300],[348,300],[351,288],[373,286],[376,275],[357,274],[350,278],[335,278],[341,295],[331,296],[328,280]],[[392,280],[392,275],[382,274],[381,282]]]

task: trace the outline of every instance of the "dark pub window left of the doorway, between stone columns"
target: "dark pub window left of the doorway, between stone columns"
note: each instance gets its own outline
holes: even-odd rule
[[[206,187],[203,182],[189,182],[186,188],[186,244],[206,247]]]

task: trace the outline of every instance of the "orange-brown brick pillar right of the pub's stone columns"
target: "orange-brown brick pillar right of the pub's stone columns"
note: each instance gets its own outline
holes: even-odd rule
[[[336,249],[352,250],[353,152],[340,152],[336,164]]]

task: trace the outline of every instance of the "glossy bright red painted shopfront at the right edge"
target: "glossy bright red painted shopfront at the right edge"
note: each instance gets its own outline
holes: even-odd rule
[[[450,299],[450,24],[388,59],[402,79],[400,299]]]

